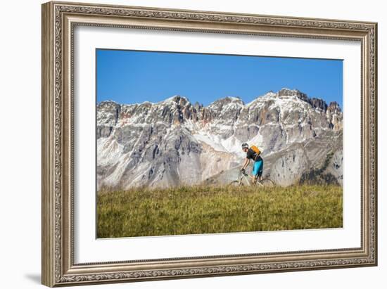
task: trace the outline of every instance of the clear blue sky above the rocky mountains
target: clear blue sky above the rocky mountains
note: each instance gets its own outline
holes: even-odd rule
[[[245,103],[267,91],[298,89],[343,108],[343,61],[202,53],[96,50],[97,102],[158,102],[174,95],[208,105]]]

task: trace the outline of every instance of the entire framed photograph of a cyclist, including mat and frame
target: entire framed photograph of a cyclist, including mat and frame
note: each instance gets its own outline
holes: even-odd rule
[[[377,25],[42,5],[42,283],[377,264]]]

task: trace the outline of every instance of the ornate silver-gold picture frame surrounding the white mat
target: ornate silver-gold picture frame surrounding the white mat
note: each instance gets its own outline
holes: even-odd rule
[[[345,39],[362,44],[362,246],[74,264],[72,44],[76,25]],[[48,286],[376,266],[377,24],[49,2],[42,6],[42,283]],[[187,252],[189,255],[189,252]]]

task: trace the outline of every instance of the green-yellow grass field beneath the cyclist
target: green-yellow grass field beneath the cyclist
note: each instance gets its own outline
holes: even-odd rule
[[[341,186],[99,191],[98,238],[343,226]]]

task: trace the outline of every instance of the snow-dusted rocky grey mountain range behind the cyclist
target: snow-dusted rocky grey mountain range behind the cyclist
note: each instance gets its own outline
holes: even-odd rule
[[[341,108],[298,90],[247,104],[103,101],[96,113],[98,189],[226,184],[238,175],[244,142],[262,149],[264,175],[277,184],[342,184]]]

